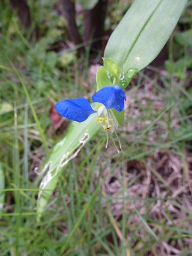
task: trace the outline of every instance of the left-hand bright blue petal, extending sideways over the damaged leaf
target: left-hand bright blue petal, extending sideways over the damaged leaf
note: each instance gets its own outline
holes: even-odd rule
[[[84,98],[59,101],[55,104],[55,109],[61,116],[79,123],[84,122],[91,114],[97,112]]]

